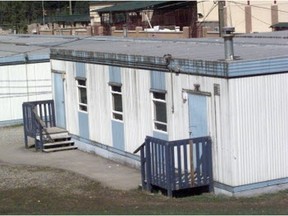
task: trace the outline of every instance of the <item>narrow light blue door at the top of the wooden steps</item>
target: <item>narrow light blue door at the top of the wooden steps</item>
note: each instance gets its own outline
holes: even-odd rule
[[[64,80],[60,73],[54,73],[54,92],[56,126],[66,128]]]

